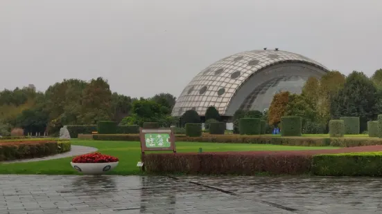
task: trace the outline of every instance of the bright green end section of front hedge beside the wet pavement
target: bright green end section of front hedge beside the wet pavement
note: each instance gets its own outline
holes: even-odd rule
[[[314,155],[312,172],[320,176],[381,176],[382,153]]]

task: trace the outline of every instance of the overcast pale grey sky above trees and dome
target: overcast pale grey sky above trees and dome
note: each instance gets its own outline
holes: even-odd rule
[[[0,0],[0,88],[101,76],[132,97],[177,97],[214,61],[263,47],[372,75],[382,1]]]

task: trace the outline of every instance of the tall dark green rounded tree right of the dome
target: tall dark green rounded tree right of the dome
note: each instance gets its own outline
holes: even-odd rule
[[[363,72],[351,72],[345,85],[331,101],[334,118],[360,117],[361,132],[367,129],[367,121],[376,115],[377,91],[371,79]]]

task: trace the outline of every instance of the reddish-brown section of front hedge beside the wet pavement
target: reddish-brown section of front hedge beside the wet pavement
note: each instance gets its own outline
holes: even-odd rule
[[[311,155],[248,153],[152,153],[144,155],[148,173],[273,175],[309,173]]]

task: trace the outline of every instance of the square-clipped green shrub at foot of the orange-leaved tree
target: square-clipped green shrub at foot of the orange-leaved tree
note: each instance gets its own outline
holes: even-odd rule
[[[281,136],[301,136],[302,119],[301,117],[281,117]]]

